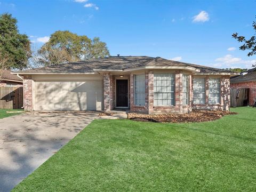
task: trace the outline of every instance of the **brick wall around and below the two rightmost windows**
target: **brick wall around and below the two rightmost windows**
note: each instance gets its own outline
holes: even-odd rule
[[[194,79],[194,77],[192,77]],[[220,104],[209,104],[209,76],[205,78],[205,104],[204,105],[192,105],[193,109],[198,110],[229,110],[230,108],[230,78],[229,76],[221,76],[221,93]]]

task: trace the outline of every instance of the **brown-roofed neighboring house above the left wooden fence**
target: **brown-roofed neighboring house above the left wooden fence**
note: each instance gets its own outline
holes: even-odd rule
[[[22,85],[22,78],[11,74],[10,70],[0,70],[0,87],[19,87]]]

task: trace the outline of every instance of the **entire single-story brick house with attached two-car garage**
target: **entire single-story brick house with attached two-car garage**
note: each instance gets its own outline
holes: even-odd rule
[[[228,70],[160,57],[107,57],[20,71],[25,110],[229,110]]]

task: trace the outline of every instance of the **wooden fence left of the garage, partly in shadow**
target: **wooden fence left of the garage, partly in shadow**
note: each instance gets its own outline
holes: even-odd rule
[[[0,109],[21,109],[23,87],[0,87]]]

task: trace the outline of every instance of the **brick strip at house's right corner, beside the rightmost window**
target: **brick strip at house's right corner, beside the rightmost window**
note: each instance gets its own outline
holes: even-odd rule
[[[229,110],[229,107],[230,107],[230,78],[229,78],[229,76],[221,77],[221,106],[223,106],[223,110]]]

